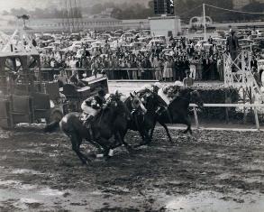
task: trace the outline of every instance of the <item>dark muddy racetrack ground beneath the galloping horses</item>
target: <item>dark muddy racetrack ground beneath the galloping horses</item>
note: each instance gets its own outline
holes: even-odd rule
[[[0,132],[0,211],[264,211],[264,133],[171,130],[171,145],[158,129],[132,155],[83,166],[67,137],[41,130]]]

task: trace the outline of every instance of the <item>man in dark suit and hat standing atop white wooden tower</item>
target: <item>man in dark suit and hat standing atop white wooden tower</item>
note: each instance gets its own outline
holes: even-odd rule
[[[226,51],[230,53],[232,60],[235,60],[240,49],[238,38],[235,36],[235,32],[230,29],[229,37],[226,40]]]

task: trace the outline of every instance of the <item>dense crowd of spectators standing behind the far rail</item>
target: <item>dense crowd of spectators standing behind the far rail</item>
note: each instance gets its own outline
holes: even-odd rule
[[[208,43],[209,48],[201,46],[197,50],[191,40],[170,38],[168,47],[151,45],[148,50],[135,53],[127,46],[112,51],[105,41],[105,47],[98,47],[94,52],[87,51],[83,46],[84,51],[78,57],[70,51],[42,53],[41,64],[47,69],[50,79],[61,75],[59,68],[63,68],[68,69],[68,79],[103,73],[109,79],[182,81],[189,70],[195,80],[223,80],[223,51],[213,43],[212,38],[208,39]]]

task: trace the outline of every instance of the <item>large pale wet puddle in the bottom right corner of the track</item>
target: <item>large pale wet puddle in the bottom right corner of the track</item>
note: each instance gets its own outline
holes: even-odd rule
[[[231,198],[232,197],[232,198]],[[216,192],[193,193],[188,196],[170,198],[166,204],[166,211],[240,211],[263,212],[264,196],[247,195],[233,198],[234,195],[223,195]]]

